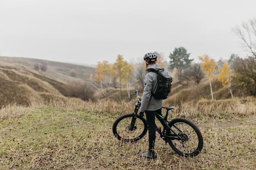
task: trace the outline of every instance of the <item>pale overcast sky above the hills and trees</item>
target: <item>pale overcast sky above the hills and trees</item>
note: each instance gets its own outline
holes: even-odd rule
[[[96,65],[132,63],[180,46],[199,62],[247,55],[234,26],[255,0],[0,0],[0,56]]]

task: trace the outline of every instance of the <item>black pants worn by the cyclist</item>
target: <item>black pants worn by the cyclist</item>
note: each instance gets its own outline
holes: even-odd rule
[[[145,110],[146,113],[146,119],[147,119],[147,124],[148,124],[148,143],[149,143],[149,150],[153,150],[154,149],[154,145],[155,145],[155,130],[157,129],[157,125],[155,124],[155,115],[157,117],[157,119],[159,119],[160,122],[162,122],[163,120],[157,115],[161,115],[162,116],[162,109],[158,109],[155,111],[148,111]],[[157,114],[155,114],[157,113]]]

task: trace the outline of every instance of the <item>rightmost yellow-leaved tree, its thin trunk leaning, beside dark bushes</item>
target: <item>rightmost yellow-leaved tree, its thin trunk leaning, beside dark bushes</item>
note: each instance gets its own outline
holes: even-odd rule
[[[219,66],[218,71],[220,72],[217,75],[218,81],[222,83],[222,86],[226,87],[230,93],[231,97],[233,99],[233,93],[231,91],[231,72],[232,70],[229,69],[229,65],[227,63],[222,64],[222,68]]]

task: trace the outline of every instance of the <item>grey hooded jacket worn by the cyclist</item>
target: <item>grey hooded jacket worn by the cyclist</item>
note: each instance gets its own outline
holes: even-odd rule
[[[152,64],[146,69],[147,73],[144,79],[144,90],[140,106],[141,112],[144,112],[145,110],[158,110],[162,107],[163,104],[162,99],[155,99],[153,96],[151,96],[151,91],[155,92],[157,87],[157,73],[148,72],[148,69],[151,68],[153,68],[155,71],[158,71],[160,69],[158,64]]]

